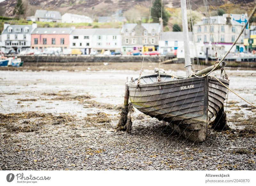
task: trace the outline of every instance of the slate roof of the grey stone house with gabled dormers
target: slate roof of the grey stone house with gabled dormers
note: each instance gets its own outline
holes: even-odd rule
[[[138,24],[136,23],[127,23],[123,25],[121,32],[124,33],[126,29],[128,30],[128,32],[132,32],[134,27],[137,25]],[[161,26],[159,23],[142,23],[141,26],[143,26],[148,31],[148,33],[151,33],[153,29],[158,33],[161,30]]]

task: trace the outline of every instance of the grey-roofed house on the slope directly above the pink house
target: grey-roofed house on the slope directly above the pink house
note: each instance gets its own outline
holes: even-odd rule
[[[49,11],[49,10],[36,10],[34,18],[36,21],[41,22],[61,22],[61,14],[59,11]]]

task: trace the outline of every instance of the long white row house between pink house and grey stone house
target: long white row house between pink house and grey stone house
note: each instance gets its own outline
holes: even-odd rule
[[[83,54],[97,50],[103,53],[121,50],[121,29],[119,28],[89,28],[75,29],[69,35],[70,48],[80,49]]]

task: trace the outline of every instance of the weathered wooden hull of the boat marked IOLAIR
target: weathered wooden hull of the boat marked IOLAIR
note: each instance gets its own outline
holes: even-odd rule
[[[185,138],[206,139],[208,122],[224,104],[228,89],[215,78],[182,78],[160,73],[143,76],[128,83],[133,106],[146,115],[169,122]],[[229,81],[221,78],[226,86]]]

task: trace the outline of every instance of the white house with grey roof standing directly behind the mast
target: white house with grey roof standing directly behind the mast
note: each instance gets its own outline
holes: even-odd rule
[[[189,42],[192,43],[192,32],[188,33]],[[162,55],[173,53],[180,47],[184,46],[182,32],[162,32],[159,41],[159,52]]]

